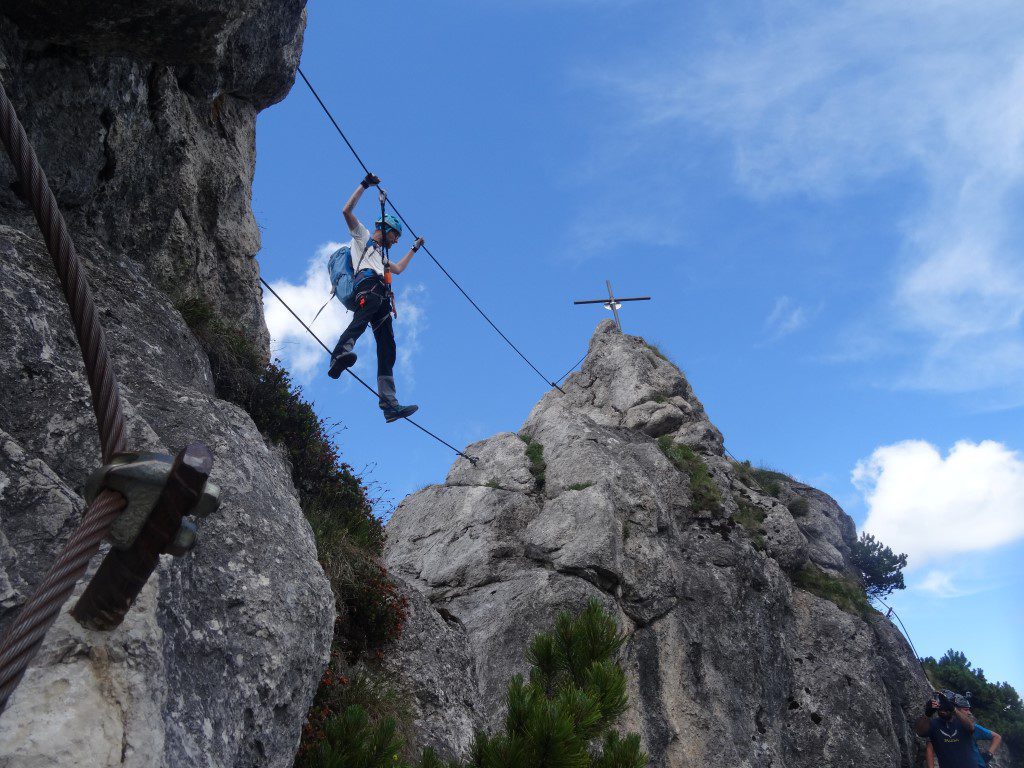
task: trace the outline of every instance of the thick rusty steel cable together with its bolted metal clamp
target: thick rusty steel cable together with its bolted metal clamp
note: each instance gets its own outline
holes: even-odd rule
[[[96,415],[102,461],[106,465],[92,485],[90,501],[78,528],[0,638],[2,712],[60,607],[71,597],[112,527],[119,529],[120,548],[116,544],[108,553],[72,609],[72,614],[89,627],[117,627],[153,572],[160,555],[187,552],[195,542],[195,528],[184,529],[184,516],[203,499],[213,456],[205,445],[189,444],[171,463],[152,506],[148,499],[153,493],[136,493],[139,473],[146,475],[146,471],[139,469],[143,461],[140,457],[125,454],[125,418],[120,390],[92,291],[46,174],[2,84],[0,140],[28,195],[71,310]],[[114,479],[115,475],[118,480]],[[147,476],[154,479],[152,473]],[[157,484],[154,479],[153,486]],[[143,496],[146,498],[144,503],[141,501]],[[211,488],[210,499],[204,507],[207,512],[216,506],[215,498]],[[130,518],[124,517],[126,509],[132,513]]]

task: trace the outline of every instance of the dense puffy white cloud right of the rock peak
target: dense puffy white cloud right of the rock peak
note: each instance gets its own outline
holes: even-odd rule
[[[863,529],[911,567],[1024,538],[1024,458],[999,442],[959,441],[944,458],[924,440],[884,445],[852,480],[868,509]]]

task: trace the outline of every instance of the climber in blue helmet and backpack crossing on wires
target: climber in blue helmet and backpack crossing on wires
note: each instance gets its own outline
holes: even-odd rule
[[[367,326],[370,326],[377,340],[377,393],[384,420],[390,423],[412,416],[419,408],[399,404],[395,390],[394,362],[397,351],[391,318],[397,316],[397,310],[394,292],[391,290],[391,275],[406,270],[413,255],[423,246],[423,238],[417,238],[409,253],[391,263],[388,251],[401,237],[401,222],[384,212],[387,194],[380,189],[381,215],[373,234],[354,213],[362,193],[371,186],[379,185],[380,179],[368,173],[341,209],[352,239],[331,255],[328,270],[331,273],[332,292],[352,312],[352,321],[331,353],[328,376],[337,379],[355,364],[352,348]]]

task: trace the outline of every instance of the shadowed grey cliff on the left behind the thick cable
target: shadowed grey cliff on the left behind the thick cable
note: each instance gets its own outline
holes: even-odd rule
[[[96,293],[135,450],[215,452],[220,510],[124,626],[62,614],[0,717],[0,765],[286,766],[333,599],[289,468],[214,395],[175,309],[266,347],[250,210],[256,113],[294,77],[303,0],[5,0],[2,79]],[[0,623],[77,524],[98,462],[68,310],[0,160]]]

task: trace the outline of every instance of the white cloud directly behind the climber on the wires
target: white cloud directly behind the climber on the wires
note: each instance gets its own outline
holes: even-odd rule
[[[316,254],[306,266],[303,283],[278,281],[270,284],[306,325],[310,325],[316,311],[331,294],[327,262],[340,246],[340,243],[325,243],[317,248]],[[395,373],[404,380],[407,386],[413,383],[413,356],[420,348],[419,333],[426,327],[423,308],[425,296],[426,289],[419,285],[398,291],[398,317],[395,322],[398,359],[395,364]],[[272,353],[282,359],[289,371],[300,380],[308,380],[321,369],[323,373],[327,373],[328,353],[269,292],[263,296],[263,314],[270,333]],[[352,313],[345,309],[340,301],[332,298],[311,328],[313,333],[333,349],[351,316]],[[359,338],[355,351],[358,354],[355,372],[371,386],[376,386],[376,351],[370,329],[367,329]],[[401,385],[402,381],[398,384]]]

